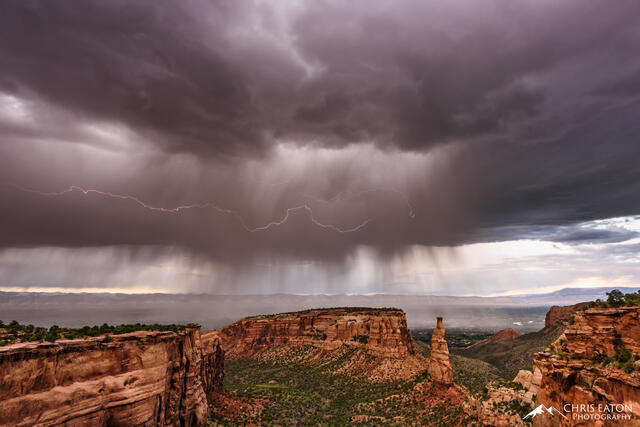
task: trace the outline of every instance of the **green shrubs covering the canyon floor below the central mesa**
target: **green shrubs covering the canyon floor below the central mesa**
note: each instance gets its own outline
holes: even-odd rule
[[[437,402],[427,407],[413,393],[428,378],[426,372],[411,380],[372,382],[364,376],[342,373],[357,357],[356,349],[327,353],[321,362],[296,362],[305,347],[275,360],[227,360],[224,391],[234,399],[260,406],[235,415],[212,406],[214,425],[351,425],[361,416],[366,425],[470,425],[458,405]],[[424,398],[423,398],[424,399]]]

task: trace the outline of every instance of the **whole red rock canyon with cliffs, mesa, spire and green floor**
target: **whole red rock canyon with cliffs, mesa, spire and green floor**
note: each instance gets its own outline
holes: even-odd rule
[[[591,425],[570,419],[565,405],[579,411],[618,404],[629,416],[624,425],[640,425],[640,307],[581,308],[553,307],[544,330],[558,330],[552,339],[564,332],[535,354],[532,371],[489,382],[481,395],[454,381],[442,317],[430,344],[418,345],[398,309],[311,309],[248,317],[206,333],[189,324],[177,332],[19,342],[0,347],[0,425],[203,426],[216,416],[260,424],[280,398],[285,407],[288,399],[321,402],[296,415],[312,424],[326,416],[519,426],[525,424],[518,408],[530,406],[568,417],[542,411],[532,416],[534,426]],[[475,348],[520,337],[507,329]],[[229,369],[234,377],[223,392]],[[253,397],[269,390],[275,394]],[[369,394],[348,410],[340,403]],[[335,408],[326,400],[334,397]],[[381,417],[380,408],[397,414]]]

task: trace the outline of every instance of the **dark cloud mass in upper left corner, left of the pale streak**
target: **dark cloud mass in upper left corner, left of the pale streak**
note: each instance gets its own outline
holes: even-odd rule
[[[207,9],[213,40],[222,9]],[[259,144],[245,70],[203,40],[204,25],[171,2],[5,3],[0,87],[174,144]]]

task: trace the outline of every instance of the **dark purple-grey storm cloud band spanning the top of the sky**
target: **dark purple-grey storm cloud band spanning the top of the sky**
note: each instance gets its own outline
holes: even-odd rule
[[[8,2],[0,86],[181,150],[422,149],[526,123],[547,84],[531,76],[633,47],[638,6],[609,6],[314,2],[281,23],[249,2]]]

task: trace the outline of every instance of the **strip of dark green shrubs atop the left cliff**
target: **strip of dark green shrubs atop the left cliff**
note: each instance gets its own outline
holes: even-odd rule
[[[12,320],[9,324],[4,324],[0,321],[0,329],[4,329],[6,332],[0,331],[0,346],[13,344],[16,342],[32,342],[32,341],[49,341],[55,342],[61,338],[63,339],[76,339],[86,337],[98,337],[105,335],[105,342],[113,341],[111,335],[121,335],[129,332],[137,331],[172,331],[178,332],[184,330],[186,327],[183,325],[143,325],[140,323],[126,324],[112,326],[106,323],[102,326],[83,326],[82,328],[61,328],[58,325],[53,325],[50,328],[36,327],[33,325],[22,325],[15,320]]]

